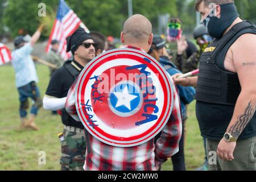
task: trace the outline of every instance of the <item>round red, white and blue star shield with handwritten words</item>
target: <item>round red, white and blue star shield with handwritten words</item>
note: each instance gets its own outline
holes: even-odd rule
[[[130,48],[94,58],[76,84],[76,110],[85,129],[101,142],[137,146],[166,125],[173,106],[168,73],[151,56]]]

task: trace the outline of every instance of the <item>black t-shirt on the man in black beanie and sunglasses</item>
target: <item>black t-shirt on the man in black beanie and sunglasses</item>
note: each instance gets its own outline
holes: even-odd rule
[[[73,63],[72,63],[73,62]],[[78,72],[81,72],[84,67],[77,63],[76,61],[67,61],[64,64],[71,64],[77,69]],[[75,78],[71,75],[71,73],[68,72],[68,70],[64,67],[61,67],[57,69],[52,77],[51,80],[49,81],[48,88],[46,90],[46,95],[51,96],[51,97],[56,97],[56,98],[63,98],[67,97],[68,90],[71,88],[73,82],[75,81]],[[81,122],[75,121],[69,115],[65,109],[61,110],[61,120],[64,125],[67,126],[73,126],[73,127],[78,127],[80,129],[84,129],[84,126],[82,125]]]

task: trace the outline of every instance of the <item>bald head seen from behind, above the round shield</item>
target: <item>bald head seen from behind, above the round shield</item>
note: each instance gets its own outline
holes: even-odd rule
[[[133,15],[125,21],[122,34],[123,43],[131,46],[136,46],[135,44],[142,46],[142,44],[148,44],[148,39],[151,38],[152,24],[143,15]]]

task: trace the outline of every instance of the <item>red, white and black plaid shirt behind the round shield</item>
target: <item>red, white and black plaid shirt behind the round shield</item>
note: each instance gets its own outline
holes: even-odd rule
[[[126,46],[126,48],[134,47]],[[170,80],[172,81],[172,78]],[[76,82],[69,89],[65,109],[76,121],[80,121],[75,106]],[[173,81],[172,88],[174,107],[156,144],[153,138],[134,147],[115,147],[101,142],[88,133],[84,169],[86,171],[152,171],[157,170],[167,158],[176,154],[179,151],[182,129],[179,94]]]

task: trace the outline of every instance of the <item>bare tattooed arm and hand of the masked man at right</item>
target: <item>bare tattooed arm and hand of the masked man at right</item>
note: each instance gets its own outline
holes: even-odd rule
[[[239,138],[253,117],[256,109],[256,35],[244,34],[231,47],[233,68],[238,73],[241,93],[237,99],[233,117],[226,133]],[[222,139],[217,154],[225,160],[232,160],[236,142]]]

